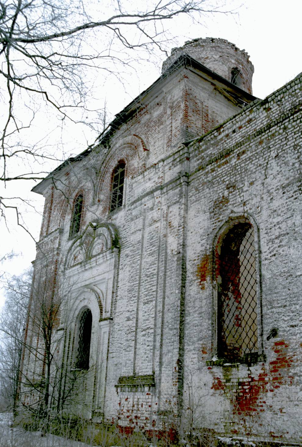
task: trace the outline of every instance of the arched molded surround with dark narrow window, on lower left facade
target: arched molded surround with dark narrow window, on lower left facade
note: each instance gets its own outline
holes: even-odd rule
[[[100,292],[100,293],[99,293]],[[72,411],[91,417],[103,402],[107,338],[102,331],[104,297],[94,287],[70,291],[66,303],[64,368],[66,371],[62,399]],[[106,321],[105,321],[106,323]],[[106,335],[106,334],[105,334]],[[104,341],[103,341],[104,338]],[[105,349],[102,346],[105,346]]]

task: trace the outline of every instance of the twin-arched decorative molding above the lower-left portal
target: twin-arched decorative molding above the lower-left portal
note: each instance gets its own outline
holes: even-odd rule
[[[120,249],[119,236],[112,223],[89,222],[67,252],[65,269],[89,261],[107,250]]]

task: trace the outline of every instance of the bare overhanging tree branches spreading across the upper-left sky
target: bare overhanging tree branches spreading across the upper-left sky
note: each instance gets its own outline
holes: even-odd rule
[[[48,132],[35,135],[41,111],[54,112],[56,126],[62,129],[68,120],[85,124],[95,138],[104,127],[104,106],[91,102],[95,77],[103,73],[121,79],[142,53],[165,51],[172,19],[189,15],[199,21],[207,13],[227,12],[221,5],[221,0],[214,6],[211,0],[0,1],[4,185],[38,181],[64,160],[62,148],[54,152]],[[22,226],[19,199],[19,194],[2,195],[0,213],[5,218],[12,209]]]

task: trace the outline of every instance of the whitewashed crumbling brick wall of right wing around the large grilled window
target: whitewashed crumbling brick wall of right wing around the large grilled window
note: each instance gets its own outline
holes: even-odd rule
[[[286,438],[291,430],[297,437],[300,433],[301,413],[295,396],[301,387],[301,267],[294,248],[301,238],[299,129],[301,76],[264,101],[255,101],[193,143],[191,150],[188,148],[192,174],[185,325],[185,339],[190,342],[185,346],[186,365],[194,371],[196,388],[212,390],[208,402],[219,409],[217,426],[220,430],[229,427],[232,433],[256,431],[269,433],[272,439]],[[223,366],[215,360],[219,351],[215,291],[213,294],[217,278],[211,253],[219,228],[239,216],[249,219],[258,233],[261,290],[257,320],[258,326],[263,325],[258,343],[263,343],[265,361],[259,358],[251,365],[235,367],[228,361]],[[277,337],[267,340],[276,327]],[[207,362],[211,358],[214,361]]]

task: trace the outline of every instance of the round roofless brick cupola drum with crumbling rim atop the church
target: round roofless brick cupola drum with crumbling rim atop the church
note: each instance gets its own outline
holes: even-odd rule
[[[190,40],[183,46],[172,49],[170,57],[162,64],[162,72],[181,55],[194,58],[240,89],[252,93],[253,64],[248,53],[237,48],[235,44],[225,39],[209,37]]]

